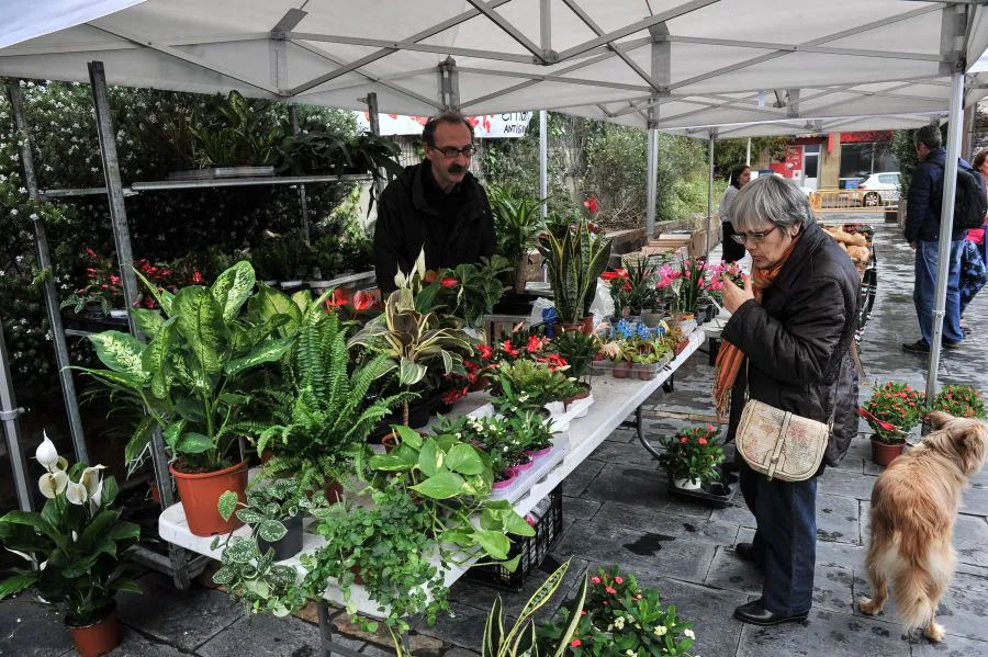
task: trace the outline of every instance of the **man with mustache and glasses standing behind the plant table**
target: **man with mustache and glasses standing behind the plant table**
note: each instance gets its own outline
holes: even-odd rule
[[[426,123],[422,138],[426,159],[405,167],[378,202],[374,269],[384,294],[423,248],[426,268],[439,270],[490,258],[496,246],[487,194],[468,171],[476,151],[470,124],[447,111]]]

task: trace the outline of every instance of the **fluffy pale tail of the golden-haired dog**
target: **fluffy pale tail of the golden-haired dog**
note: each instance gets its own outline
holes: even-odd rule
[[[899,558],[890,564],[889,578],[896,614],[907,630],[923,627],[936,612],[940,587],[944,574],[934,557],[939,540],[935,536],[897,536]],[[946,575],[950,578],[950,575]]]

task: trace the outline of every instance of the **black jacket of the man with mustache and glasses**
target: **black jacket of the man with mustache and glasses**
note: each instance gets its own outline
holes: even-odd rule
[[[438,270],[491,257],[496,247],[494,215],[487,194],[469,171],[459,185],[461,205],[450,225],[441,209],[428,203],[425,185],[435,184],[429,161],[405,167],[378,202],[374,230],[374,269],[381,292],[395,288],[394,274],[408,273],[425,247],[426,268]]]

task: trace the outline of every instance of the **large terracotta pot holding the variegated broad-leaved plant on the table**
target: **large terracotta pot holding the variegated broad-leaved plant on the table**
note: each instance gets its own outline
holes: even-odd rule
[[[204,474],[179,472],[175,465],[175,463],[169,464],[168,471],[175,477],[176,486],[178,486],[190,532],[197,536],[226,534],[244,524],[236,513],[231,516],[229,520],[223,520],[216,502],[220,500],[220,496],[227,490],[235,491],[242,503],[247,501],[244,494],[247,489],[246,461],[226,469]]]

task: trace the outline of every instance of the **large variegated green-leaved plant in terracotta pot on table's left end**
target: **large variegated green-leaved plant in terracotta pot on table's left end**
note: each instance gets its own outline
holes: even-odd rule
[[[248,262],[233,265],[210,287],[191,285],[177,294],[142,280],[161,307],[132,311],[150,342],[119,331],[90,336],[108,369],[80,370],[141,396],[147,418],[127,450],[139,452],[134,445],[146,444],[155,424],[164,430],[190,531],[200,536],[232,531],[239,522],[224,521],[216,502],[226,490],[245,499],[247,462],[238,448],[256,429],[242,422],[255,393],[248,375],[285,354],[294,339],[285,328],[292,317],[287,307],[268,303],[266,286],[251,296]],[[242,316],[248,299],[249,317]],[[277,337],[278,330],[285,335]]]

